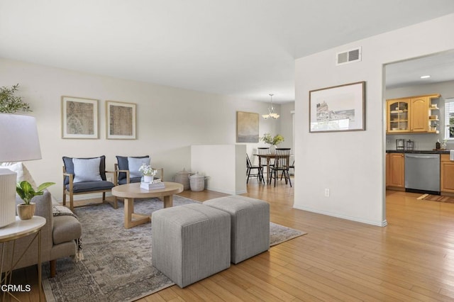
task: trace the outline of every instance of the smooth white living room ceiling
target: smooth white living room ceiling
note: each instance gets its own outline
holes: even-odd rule
[[[453,0],[0,0],[0,57],[284,102],[296,58],[453,12]]]

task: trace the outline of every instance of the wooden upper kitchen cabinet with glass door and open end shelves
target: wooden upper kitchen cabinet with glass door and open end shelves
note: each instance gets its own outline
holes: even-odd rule
[[[432,115],[438,108],[432,99],[439,97],[440,94],[427,94],[387,100],[387,134],[436,133],[431,122],[438,121]]]

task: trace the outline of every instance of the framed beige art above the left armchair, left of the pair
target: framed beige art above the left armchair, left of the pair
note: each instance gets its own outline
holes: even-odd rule
[[[62,96],[62,138],[99,138],[98,100]]]

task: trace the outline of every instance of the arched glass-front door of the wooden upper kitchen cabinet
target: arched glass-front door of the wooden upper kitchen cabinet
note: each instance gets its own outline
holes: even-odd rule
[[[409,101],[388,100],[387,111],[387,132],[399,133],[409,131]]]

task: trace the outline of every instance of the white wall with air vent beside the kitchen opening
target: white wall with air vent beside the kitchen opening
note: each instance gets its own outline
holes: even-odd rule
[[[296,61],[295,208],[386,225],[383,65],[453,49],[453,26],[450,14]],[[362,62],[336,66],[336,52],[358,46]],[[309,133],[309,91],[360,81],[366,82],[366,130]]]

